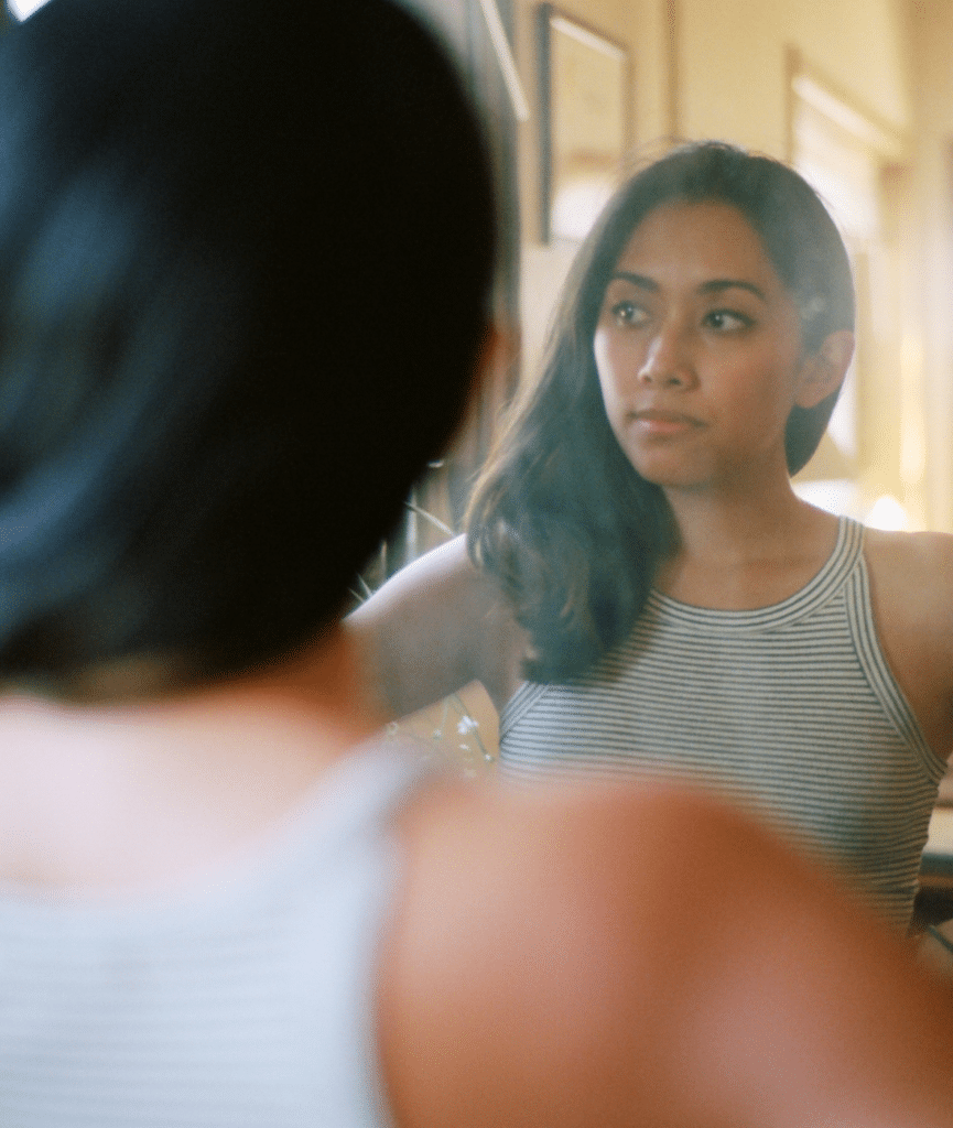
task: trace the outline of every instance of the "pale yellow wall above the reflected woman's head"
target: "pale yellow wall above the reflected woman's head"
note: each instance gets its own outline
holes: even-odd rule
[[[948,0],[926,2],[951,8]],[[874,116],[901,131],[911,122],[903,0],[561,0],[558,7],[629,49],[636,144],[668,135],[674,113],[682,136],[718,136],[784,157],[788,46]],[[517,0],[515,53],[532,108],[519,141],[529,241],[539,236],[537,9],[536,0]]]

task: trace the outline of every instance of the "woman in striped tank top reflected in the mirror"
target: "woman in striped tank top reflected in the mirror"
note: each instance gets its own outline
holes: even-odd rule
[[[953,747],[953,541],[792,490],[853,323],[844,245],[795,173],[707,142],[634,176],[466,545],[353,617],[385,707],[480,680],[509,776],[705,783],[908,924]]]

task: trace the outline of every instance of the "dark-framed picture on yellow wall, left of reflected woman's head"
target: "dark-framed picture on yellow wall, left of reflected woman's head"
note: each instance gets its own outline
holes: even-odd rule
[[[629,55],[555,5],[538,19],[542,241],[580,241],[629,147]]]

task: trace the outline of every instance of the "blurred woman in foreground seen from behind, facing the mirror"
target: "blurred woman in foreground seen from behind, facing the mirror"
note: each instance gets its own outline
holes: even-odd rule
[[[406,16],[291,7],[0,47],[0,1122],[953,1125],[944,988],[757,827],[372,739],[492,193]]]

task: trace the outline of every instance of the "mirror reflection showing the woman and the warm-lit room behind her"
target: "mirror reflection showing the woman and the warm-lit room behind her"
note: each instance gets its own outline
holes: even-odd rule
[[[438,7],[459,39],[455,6]],[[529,103],[518,121],[489,59],[482,97],[519,232],[503,264],[497,395],[477,405],[444,483],[438,472],[420,487],[430,497],[414,501],[412,549],[405,531],[379,579],[445,547],[355,617],[383,671],[385,711],[442,698],[400,731],[470,773],[497,757],[526,776],[637,761],[760,795],[809,845],[830,817],[840,843],[821,853],[866,873],[874,900],[899,882],[897,919],[909,920],[928,825],[937,872],[924,882],[953,884],[953,793],[941,783],[953,556],[932,536],[953,530],[953,12],[891,0],[494,8]],[[704,139],[792,170],[832,221],[824,246],[846,283],[822,281],[833,259],[817,241],[821,220],[765,185],[756,214],[696,170],[645,211],[617,195],[610,210],[628,218],[595,219],[610,183],[634,192],[644,169]],[[844,300],[849,316],[835,316]],[[755,371],[757,399],[718,384],[744,373],[751,396]],[[503,403],[515,403],[515,423],[494,448]],[[810,413],[822,421],[794,457],[792,431]],[[697,448],[716,418],[735,429],[703,467]],[[461,466],[482,469],[475,493],[459,488]],[[635,481],[644,496],[627,492]],[[450,537],[465,529],[469,552]],[[840,625],[798,618],[812,602],[823,615],[840,607]],[[788,615],[801,634],[783,644]],[[400,623],[392,652],[380,642],[388,622]],[[742,653],[739,632],[753,646],[756,623],[770,642]],[[405,698],[408,654],[418,675],[430,676],[425,654],[439,670]],[[706,765],[670,747],[686,744]]]

